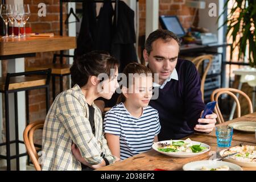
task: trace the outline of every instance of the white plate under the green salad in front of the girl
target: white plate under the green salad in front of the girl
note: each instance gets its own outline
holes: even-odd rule
[[[172,140],[172,142],[178,142],[178,141],[185,142],[185,140]],[[207,147],[207,150],[204,150],[204,151],[201,151],[201,152],[198,152],[198,153],[193,153],[193,152],[189,152],[189,153],[188,152],[162,152],[162,151],[158,150],[158,143],[167,143],[167,144],[169,144],[170,142],[171,142],[171,140],[164,140],[164,141],[156,142],[156,143],[152,144],[152,148],[157,152],[160,152],[162,154],[166,154],[166,155],[169,155],[169,156],[173,156],[173,157],[176,157],[176,158],[189,158],[189,157],[193,157],[193,156],[196,156],[196,155],[204,154],[205,152],[208,152],[210,150],[210,146],[208,146],[208,144],[201,143],[201,142],[195,142],[195,141],[191,141],[193,145],[201,144],[202,147]]]

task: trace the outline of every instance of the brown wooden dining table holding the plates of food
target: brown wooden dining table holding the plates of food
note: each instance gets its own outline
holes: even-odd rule
[[[256,112],[252,114],[244,115],[240,118],[227,121],[220,125],[229,125],[229,123],[250,121],[256,122]],[[195,133],[189,135],[186,138],[190,138],[193,141],[202,142],[210,146],[210,150],[204,154],[197,155],[190,158],[175,158],[172,156],[160,154],[155,150],[143,152],[142,154],[135,155],[131,158],[122,160],[115,164],[111,164],[106,167],[98,169],[98,171],[154,171],[155,169],[163,169],[168,171],[180,171],[184,164],[197,160],[210,160],[219,157],[219,152],[224,148],[217,146],[217,138],[215,130],[210,134]],[[245,133],[234,130],[232,137],[232,146],[237,146],[240,143],[248,145],[256,145],[255,133]],[[243,171],[256,171],[256,167],[242,167]]]

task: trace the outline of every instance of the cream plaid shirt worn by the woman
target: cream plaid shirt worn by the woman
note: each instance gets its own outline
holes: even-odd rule
[[[42,140],[42,170],[81,170],[81,163],[72,155],[72,141],[90,164],[102,161],[101,153],[110,164],[115,156],[109,150],[102,131],[102,115],[96,105],[95,136],[89,122],[89,108],[79,85],[60,93],[46,116]]]

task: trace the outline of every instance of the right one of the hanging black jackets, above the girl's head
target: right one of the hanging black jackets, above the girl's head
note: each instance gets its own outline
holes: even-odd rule
[[[114,14],[114,35],[111,51],[111,55],[120,62],[119,72],[122,72],[127,64],[138,62],[134,47],[135,42],[134,11],[125,2],[119,1],[117,17]]]

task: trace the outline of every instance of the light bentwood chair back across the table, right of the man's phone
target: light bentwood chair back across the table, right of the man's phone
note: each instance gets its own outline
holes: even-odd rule
[[[244,92],[242,92],[241,90],[233,89],[233,88],[220,88],[220,89],[216,89],[211,94],[210,100],[217,102],[214,111],[218,115],[218,118],[217,118],[217,122],[218,123],[225,122],[224,118],[222,117],[222,114],[221,114],[221,111],[220,111],[220,107],[218,106],[218,97],[220,97],[221,94],[229,94],[229,96],[234,98],[234,101],[237,104],[237,117],[238,118],[241,117],[241,105],[240,105],[240,102],[238,101],[237,96],[234,93],[238,93],[238,94],[240,94],[240,95],[242,95],[243,97],[246,98],[246,101],[248,102],[248,105],[249,105],[249,112],[253,113],[253,104],[251,104],[250,98]]]

